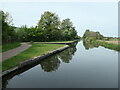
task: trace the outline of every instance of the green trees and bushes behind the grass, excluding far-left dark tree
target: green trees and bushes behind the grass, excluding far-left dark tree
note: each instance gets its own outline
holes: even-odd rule
[[[20,41],[66,41],[79,39],[75,27],[70,19],[60,22],[58,15],[46,11],[36,27],[28,28],[26,25],[18,30]]]

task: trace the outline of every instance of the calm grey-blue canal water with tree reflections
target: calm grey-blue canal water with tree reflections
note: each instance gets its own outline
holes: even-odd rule
[[[3,79],[4,88],[118,88],[118,52],[78,42]]]

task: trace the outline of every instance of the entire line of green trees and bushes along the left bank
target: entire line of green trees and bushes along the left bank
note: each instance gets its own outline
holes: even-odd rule
[[[69,18],[60,21],[56,13],[44,12],[37,25],[30,28],[26,25],[13,26],[9,13],[0,11],[0,15],[2,16],[0,20],[2,21],[3,43],[14,41],[67,41],[79,38],[72,21]]]

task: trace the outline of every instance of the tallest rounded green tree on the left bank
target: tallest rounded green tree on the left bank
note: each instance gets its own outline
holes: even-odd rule
[[[60,38],[60,20],[55,13],[46,11],[41,15],[37,30],[42,32],[45,41],[54,41]]]

